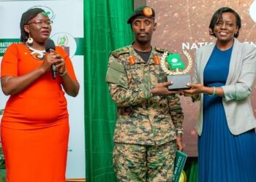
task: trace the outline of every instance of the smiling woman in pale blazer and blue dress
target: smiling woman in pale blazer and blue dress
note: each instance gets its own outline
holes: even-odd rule
[[[233,9],[214,13],[209,32],[217,41],[197,50],[195,80],[184,91],[200,100],[200,182],[256,181],[256,121],[250,101],[256,49],[236,39],[240,28],[241,18]]]

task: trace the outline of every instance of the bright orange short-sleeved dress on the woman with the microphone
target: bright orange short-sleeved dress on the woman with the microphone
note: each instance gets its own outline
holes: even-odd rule
[[[69,56],[56,47],[67,72],[77,80]],[[1,76],[22,76],[42,64],[24,44],[12,44],[1,62]],[[67,100],[61,76],[48,71],[26,90],[10,95],[1,119],[1,143],[8,182],[64,182],[69,138]]]

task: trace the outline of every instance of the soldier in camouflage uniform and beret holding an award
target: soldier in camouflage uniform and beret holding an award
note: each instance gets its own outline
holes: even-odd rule
[[[165,50],[151,47],[154,9],[129,17],[132,45],[110,54],[108,82],[117,105],[113,163],[118,181],[172,181],[175,152],[182,150],[184,114],[180,99],[159,66]]]

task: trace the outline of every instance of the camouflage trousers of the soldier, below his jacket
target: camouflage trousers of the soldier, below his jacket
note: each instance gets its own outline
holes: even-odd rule
[[[176,141],[159,146],[115,143],[113,165],[118,181],[172,181]]]

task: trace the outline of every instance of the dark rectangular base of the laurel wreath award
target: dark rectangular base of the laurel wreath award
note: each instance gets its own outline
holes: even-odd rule
[[[188,89],[187,83],[191,83],[190,74],[168,75],[168,82],[173,84],[168,86],[168,90]]]

